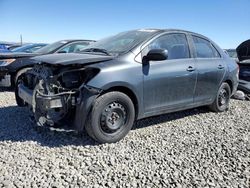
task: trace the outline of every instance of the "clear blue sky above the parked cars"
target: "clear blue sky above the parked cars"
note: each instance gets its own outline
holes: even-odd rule
[[[189,30],[236,48],[250,38],[250,0],[0,0],[0,41],[99,40],[140,28]]]

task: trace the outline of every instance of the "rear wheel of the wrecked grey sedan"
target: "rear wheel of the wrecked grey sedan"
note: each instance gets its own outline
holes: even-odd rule
[[[229,108],[231,89],[228,83],[223,82],[217,92],[214,102],[209,108],[214,112],[224,112]]]

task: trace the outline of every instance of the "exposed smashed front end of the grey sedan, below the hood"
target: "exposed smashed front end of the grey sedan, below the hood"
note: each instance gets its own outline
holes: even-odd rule
[[[101,93],[86,83],[99,70],[36,65],[18,82],[18,96],[30,107],[38,125],[73,125],[82,131],[91,105]]]

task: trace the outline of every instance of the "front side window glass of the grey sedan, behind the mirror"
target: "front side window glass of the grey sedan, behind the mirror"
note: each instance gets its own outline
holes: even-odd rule
[[[189,46],[185,34],[166,34],[151,42],[147,51],[151,49],[165,49],[168,51],[168,60],[190,58]]]

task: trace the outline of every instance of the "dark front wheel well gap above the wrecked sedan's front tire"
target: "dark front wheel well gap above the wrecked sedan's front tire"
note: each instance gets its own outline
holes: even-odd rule
[[[104,93],[108,93],[108,92],[111,92],[111,91],[119,91],[121,93],[124,93],[124,94],[128,95],[128,97],[132,100],[132,102],[134,104],[135,115],[136,115],[136,118],[137,118],[137,115],[138,115],[138,100],[137,100],[137,97],[134,94],[134,92],[131,89],[127,88],[127,87],[116,86],[116,87],[111,87],[108,90],[105,90]]]

